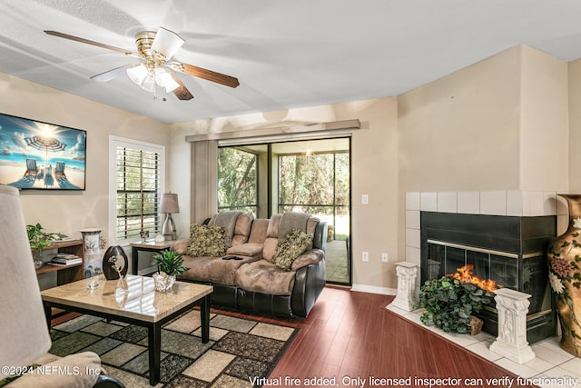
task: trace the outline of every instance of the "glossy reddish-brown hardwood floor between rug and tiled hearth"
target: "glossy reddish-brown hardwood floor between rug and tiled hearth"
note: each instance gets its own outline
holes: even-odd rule
[[[393,386],[381,380],[369,381],[369,376],[411,378],[411,386],[429,386],[428,381],[416,377],[456,378],[460,381],[445,380],[432,386],[476,383],[472,386],[498,387],[508,384],[487,383],[486,378],[508,377],[515,379],[513,386],[517,385],[514,373],[386,310],[392,299],[393,296],[327,286],[309,317],[296,323],[300,333],[271,378],[281,376],[284,383],[285,376],[300,381],[335,377],[336,386],[353,387],[361,386],[357,378],[363,379],[366,387],[370,383]]]

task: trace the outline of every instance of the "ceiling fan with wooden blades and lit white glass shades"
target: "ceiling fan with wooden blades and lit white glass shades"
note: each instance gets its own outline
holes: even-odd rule
[[[123,53],[124,55],[133,56],[140,60],[137,63],[123,65],[101,73],[100,75],[94,75],[91,79],[95,81],[107,82],[126,73],[134,84],[140,85],[144,90],[155,92],[155,85],[158,85],[166,93],[173,92],[180,100],[190,100],[193,98],[193,95],[173,71],[193,75],[230,87],[240,85],[238,79],[230,75],[222,75],[221,73],[212,72],[212,70],[173,60],[173,55],[182,47],[185,41],[180,35],[163,27],[160,27],[157,32],[142,31],[137,33],[135,35],[137,52],[125,50],[113,45],[105,45],[74,35],[59,33],[57,31],[44,30],[44,33],[87,45],[96,45],[97,47],[103,47],[108,50]]]

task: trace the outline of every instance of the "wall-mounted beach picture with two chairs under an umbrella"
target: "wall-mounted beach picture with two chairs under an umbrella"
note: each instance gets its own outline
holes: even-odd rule
[[[0,114],[0,184],[84,190],[86,131]]]

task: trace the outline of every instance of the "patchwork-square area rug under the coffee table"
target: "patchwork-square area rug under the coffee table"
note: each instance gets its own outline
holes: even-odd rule
[[[161,383],[156,387],[252,387],[268,377],[299,329],[212,313],[202,343],[200,311],[162,328]],[[126,387],[150,387],[147,329],[81,315],[53,327],[50,353],[99,354],[107,374]]]

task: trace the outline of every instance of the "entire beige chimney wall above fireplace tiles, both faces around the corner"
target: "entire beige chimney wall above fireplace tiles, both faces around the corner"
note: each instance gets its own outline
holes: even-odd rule
[[[399,95],[402,192],[566,190],[566,62],[518,45]]]

